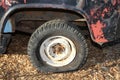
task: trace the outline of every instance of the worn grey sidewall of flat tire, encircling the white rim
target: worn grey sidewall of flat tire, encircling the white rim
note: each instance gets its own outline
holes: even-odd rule
[[[84,58],[84,42],[80,39],[80,35],[78,35],[78,33],[74,33],[72,30],[66,30],[63,28],[60,29],[46,29],[45,31],[42,31],[39,35],[35,35],[36,36],[36,40],[34,41],[35,45],[31,51],[32,57],[35,59],[34,62],[36,62],[35,64],[37,64],[38,67],[41,68],[41,70],[44,71],[49,71],[49,72],[63,72],[63,71],[72,71],[76,68],[78,68],[80,66],[80,64],[83,61]],[[44,40],[46,40],[47,38],[51,37],[51,36],[64,36],[69,38],[76,47],[76,56],[75,59],[68,65],[63,66],[63,67],[53,67],[50,66],[48,64],[46,64],[46,62],[44,62],[41,58],[41,55],[39,53],[40,47],[42,42],[44,42]]]

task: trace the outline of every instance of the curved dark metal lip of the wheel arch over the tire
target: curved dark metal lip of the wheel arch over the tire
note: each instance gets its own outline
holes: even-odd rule
[[[74,6],[69,6],[69,5],[56,5],[56,4],[20,4],[20,5],[15,5],[13,7],[11,7],[2,17],[1,19],[1,24],[0,24],[0,33],[2,34],[4,32],[5,29],[5,25],[7,23],[7,21],[9,20],[10,16],[14,15],[15,13],[18,13],[20,11],[24,11],[24,10],[31,10],[31,9],[35,9],[35,10],[60,10],[60,11],[65,11],[65,12],[69,12],[69,13],[74,13],[75,15],[79,15],[82,16],[87,23],[87,27],[89,29],[90,32],[90,36],[92,38],[92,40],[94,41],[92,32],[90,30],[90,25],[88,23],[88,15],[86,12],[84,12],[83,10],[79,10]],[[14,28],[15,26],[12,26],[12,28]]]

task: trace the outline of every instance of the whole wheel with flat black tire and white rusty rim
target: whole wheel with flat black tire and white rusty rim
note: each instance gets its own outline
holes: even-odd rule
[[[88,48],[76,26],[52,20],[40,26],[28,43],[31,62],[42,72],[79,69],[86,61]]]

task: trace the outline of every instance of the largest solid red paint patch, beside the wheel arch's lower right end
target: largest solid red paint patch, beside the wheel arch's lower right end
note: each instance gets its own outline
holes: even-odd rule
[[[91,24],[91,28],[96,42],[108,42],[108,40],[105,39],[104,33],[102,31],[102,28],[104,27],[106,27],[106,25],[101,23],[100,20],[98,20],[95,24]]]

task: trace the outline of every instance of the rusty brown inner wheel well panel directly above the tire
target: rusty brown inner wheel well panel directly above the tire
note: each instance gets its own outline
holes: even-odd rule
[[[80,18],[78,15],[59,11],[22,11],[15,14],[13,18],[15,18],[16,30],[27,33],[33,33],[43,23],[56,18],[70,21],[70,23],[82,27],[87,26],[86,19],[83,17]]]

